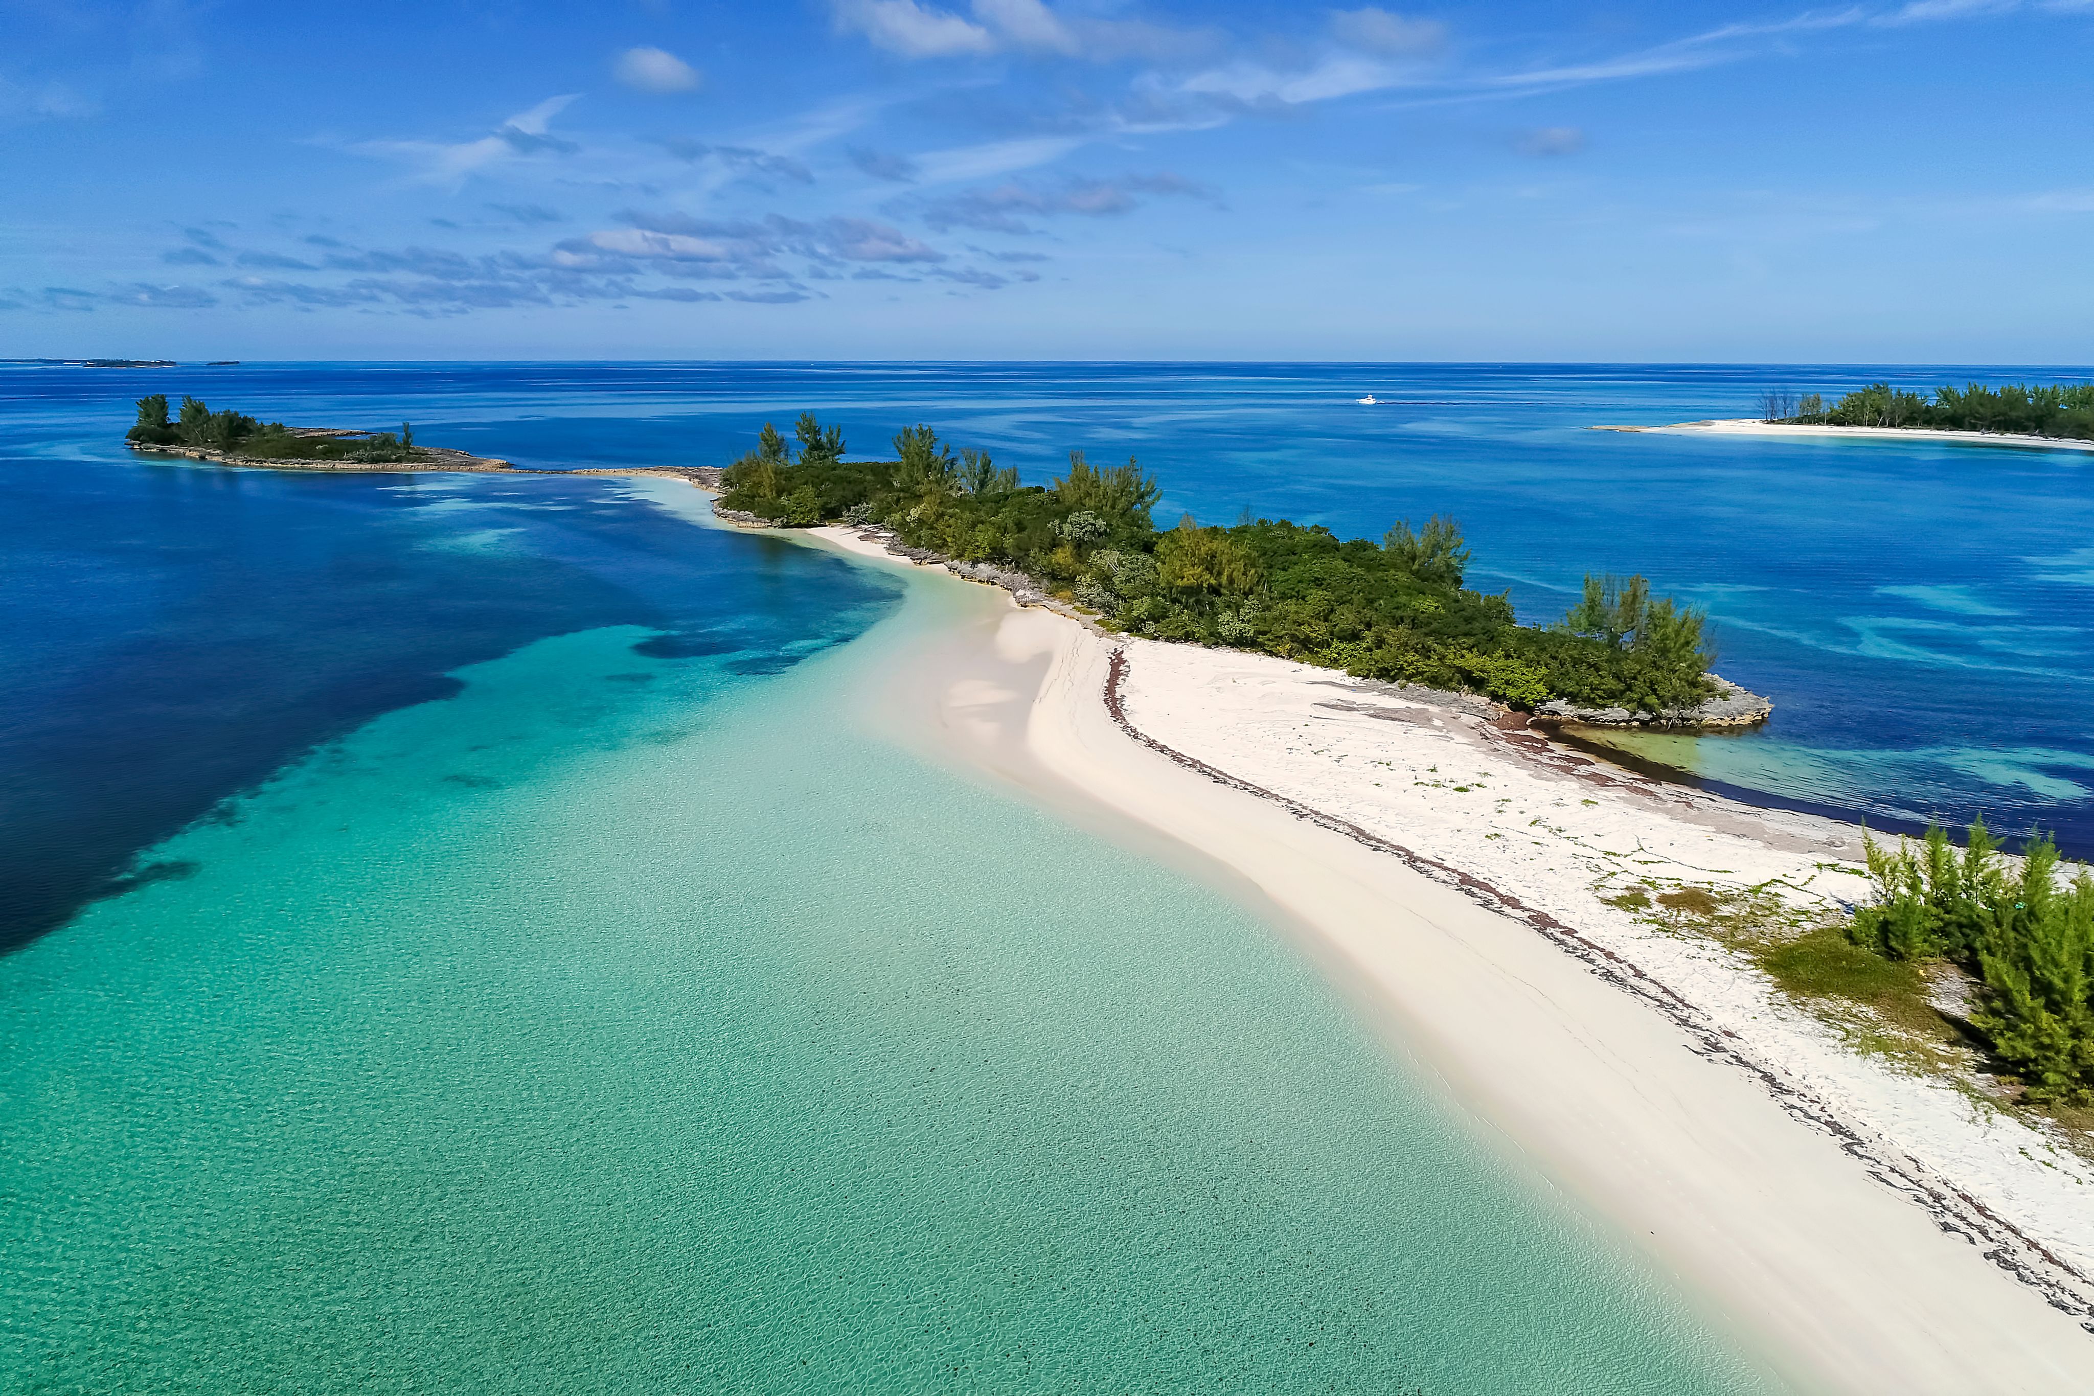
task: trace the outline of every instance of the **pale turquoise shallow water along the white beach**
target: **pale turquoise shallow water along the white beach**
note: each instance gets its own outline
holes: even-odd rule
[[[1765,1390],[1250,915],[861,730],[951,594],[536,638],[0,961],[0,1386]]]

